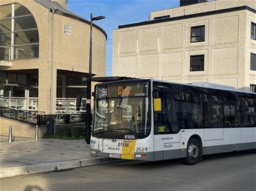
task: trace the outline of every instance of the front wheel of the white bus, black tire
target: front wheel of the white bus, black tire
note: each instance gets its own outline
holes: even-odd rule
[[[201,158],[201,144],[198,139],[191,137],[188,140],[188,145],[186,147],[186,158],[184,158],[185,164],[194,165]]]

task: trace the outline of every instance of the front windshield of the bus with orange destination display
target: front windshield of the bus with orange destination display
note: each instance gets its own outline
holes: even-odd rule
[[[150,135],[148,84],[96,86],[94,137],[142,139]]]

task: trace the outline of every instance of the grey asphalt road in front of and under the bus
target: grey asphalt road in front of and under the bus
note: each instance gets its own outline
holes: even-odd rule
[[[0,190],[256,190],[255,167],[252,152],[204,156],[193,166],[118,162],[0,179]]]

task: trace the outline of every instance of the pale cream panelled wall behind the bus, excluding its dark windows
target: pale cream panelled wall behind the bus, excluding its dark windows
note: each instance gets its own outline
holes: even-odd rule
[[[250,71],[251,20],[247,10],[160,22],[113,31],[113,75],[210,82],[248,89],[255,82]],[[190,28],[205,25],[205,41],[190,43]],[[204,54],[204,71],[190,72],[190,55]]]

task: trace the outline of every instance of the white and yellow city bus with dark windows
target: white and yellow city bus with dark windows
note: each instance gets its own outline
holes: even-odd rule
[[[256,93],[159,80],[107,82],[94,92],[91,156],[196,164],[256,149]]]

